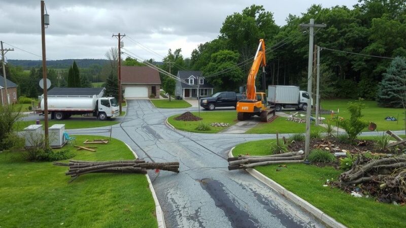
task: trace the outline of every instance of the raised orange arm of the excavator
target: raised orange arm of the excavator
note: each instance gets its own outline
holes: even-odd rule
[[[248,74],[247,80],[247,99],[249,100],[256,100],[256,88],[255,88],[255,79],[257,77],[257,73],[259,67],[262,66],[262,70],[264,71],[264,67],[266,66],[265,60],[265,42],[263,39],[259,40],[259,46],[257,52],[255,53],[254,62],[252,63],[250,72]]]

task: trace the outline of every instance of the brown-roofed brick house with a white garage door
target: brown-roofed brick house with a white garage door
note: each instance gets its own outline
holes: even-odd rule
[[[125,99],[148,98],[151,94],[159,98],[159,72],[149,66],[121,66],[121,87]]]

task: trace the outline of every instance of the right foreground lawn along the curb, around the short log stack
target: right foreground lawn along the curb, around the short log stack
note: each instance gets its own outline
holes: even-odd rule
[[[273,141],[240,144],[233,155],[268,155]],[[269,165],[255,169],[348,227],[406,227],[404,207],[354,198],[340,189],[323,187],[326,179],[337,179],[340,170],[304,164],[287,164],[281,171],[276,171],[277,168],[278,165]]]

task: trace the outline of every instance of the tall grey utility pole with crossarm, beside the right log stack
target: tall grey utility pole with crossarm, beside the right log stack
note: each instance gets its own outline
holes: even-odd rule
[[[308,94],[309,97],[312,97],[312,73],[313,73],[313,39],[314,39],[314,28],[315,27],[326,27],[325,24],[315,24],[314,19],[310,19],[309,24],[300,24],[301,27],[309,27],[309,64],[308,64]],[[310,112],[312,109],[312,99],[308,99],[308,107],[306,110],[306,143],[304,147],[304,157],[309,156],[309,145],[310,145]]]

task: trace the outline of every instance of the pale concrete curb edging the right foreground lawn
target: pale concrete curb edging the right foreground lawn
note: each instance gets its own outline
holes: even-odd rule
[[[234,157],[232,155],[232,150],[235,148],[232,147],[228,153],[228,157]],[[346,228],[347,226],[343,225],[342,223],[336,221],[334,218],[328,216],[326,213],[321,211],[320,209],[316,208],[309,202],[303,200],[302,198],[298,197],[297,195],[293,194],[292,192],[288,191],[279,183],[275,182],[272,179],[269,179],[267,176],[263,175],[262,173],[258,172],[255,169],[248,168],[246,171],[251,174],[253,177],[261,181],[262,183],[268,185],[270,188],[274,189],[276,192],[281,194],[282,196],[286,197],[293,203],[297,204],[298,206],[302,207],[304,210],[307,210],[309,213],[314,215],[320,221],[324,222],[326,225],[334,227],[334,228]]]

